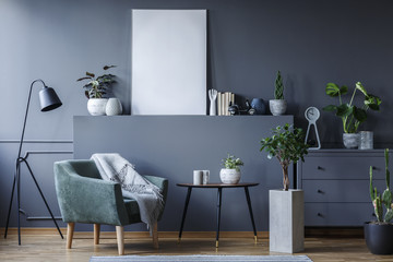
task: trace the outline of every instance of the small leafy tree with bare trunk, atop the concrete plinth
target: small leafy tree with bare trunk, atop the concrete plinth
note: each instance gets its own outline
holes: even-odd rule
[[[272,136],[261,140],[261,152],[267,152],[267,158],[277,157],[283,168],[284,190],[289,189],[288,167],[290,163],[299,159],[305,162],[309,145],[305,143],[305,132],[286,123],[284,127],[273,129]]]

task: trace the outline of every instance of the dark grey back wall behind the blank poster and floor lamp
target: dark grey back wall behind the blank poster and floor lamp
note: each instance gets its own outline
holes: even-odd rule
[[[269,99],[279,69],[288,114],[300,127],[306,127],[307,107],[334,103],[324,94],[326,82],[354,86],[361,81],[383,99],[381,112],[370,114],[364,129],[374,131],[379,147],[392,145],[392,1],[0,0],[0,226],[29,84],[41,78],[64,106],[41,114],[33,97],[26,139],[70,143],[27,143],[24,150],[72,146],[72,117],[87,115],[75,80],[85,71],[99,73],[104,64],[118,66],[112,71],[119,76],[114,94],[130,114],[130,10],[144,8],[207,9],[207,87]],[[323,145],[340,146],[340,119],[322,112],[318,124]],[[69,156],[36,155],[36,170],[44,180],[51,178],[52,162]],[[44,191],[52,194],[52,186],[45,184]],[[36,212],[41,203],[32,198],[27,205]]]

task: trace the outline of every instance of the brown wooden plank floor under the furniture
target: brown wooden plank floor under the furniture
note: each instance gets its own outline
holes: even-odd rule
[[[372,255],[362,238],[306,238],[307,254],[315,262],[344,261],[392,261],[393,255]],[[66,239],[59,235],[23,233],[22,246],[17,236],[11,234],[0,238],[0,261],[56,261],[87,262],[92,255],[117,255],[115,233],[104,233],[100,245],[93,245],[93,234],[75,233],[71,250],[66,249]],[[174,237],[160,237],[159,249],[153,248],[151,238],[126,236],[126,254],[279,254],[269,252],[269,239],[257,243],[250,237],[222,238],[216,250],[214,238],[183,238],[180,243]]]

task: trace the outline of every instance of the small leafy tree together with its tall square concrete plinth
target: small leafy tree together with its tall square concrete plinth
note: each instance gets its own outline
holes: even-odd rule
[[[305,204],[302,190],[289,190],[288,167],[308,153],[305,133],[289,124],[277,127],[261,140],[261,151],[278,159],[283,169],[282,190],[269,190],[269,245],[272,252],[294,253],[305,246]]]

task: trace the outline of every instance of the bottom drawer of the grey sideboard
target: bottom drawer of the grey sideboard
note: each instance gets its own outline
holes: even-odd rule
[[[371,203],[306,203],[306,226],[362,226],[376,221]]]

